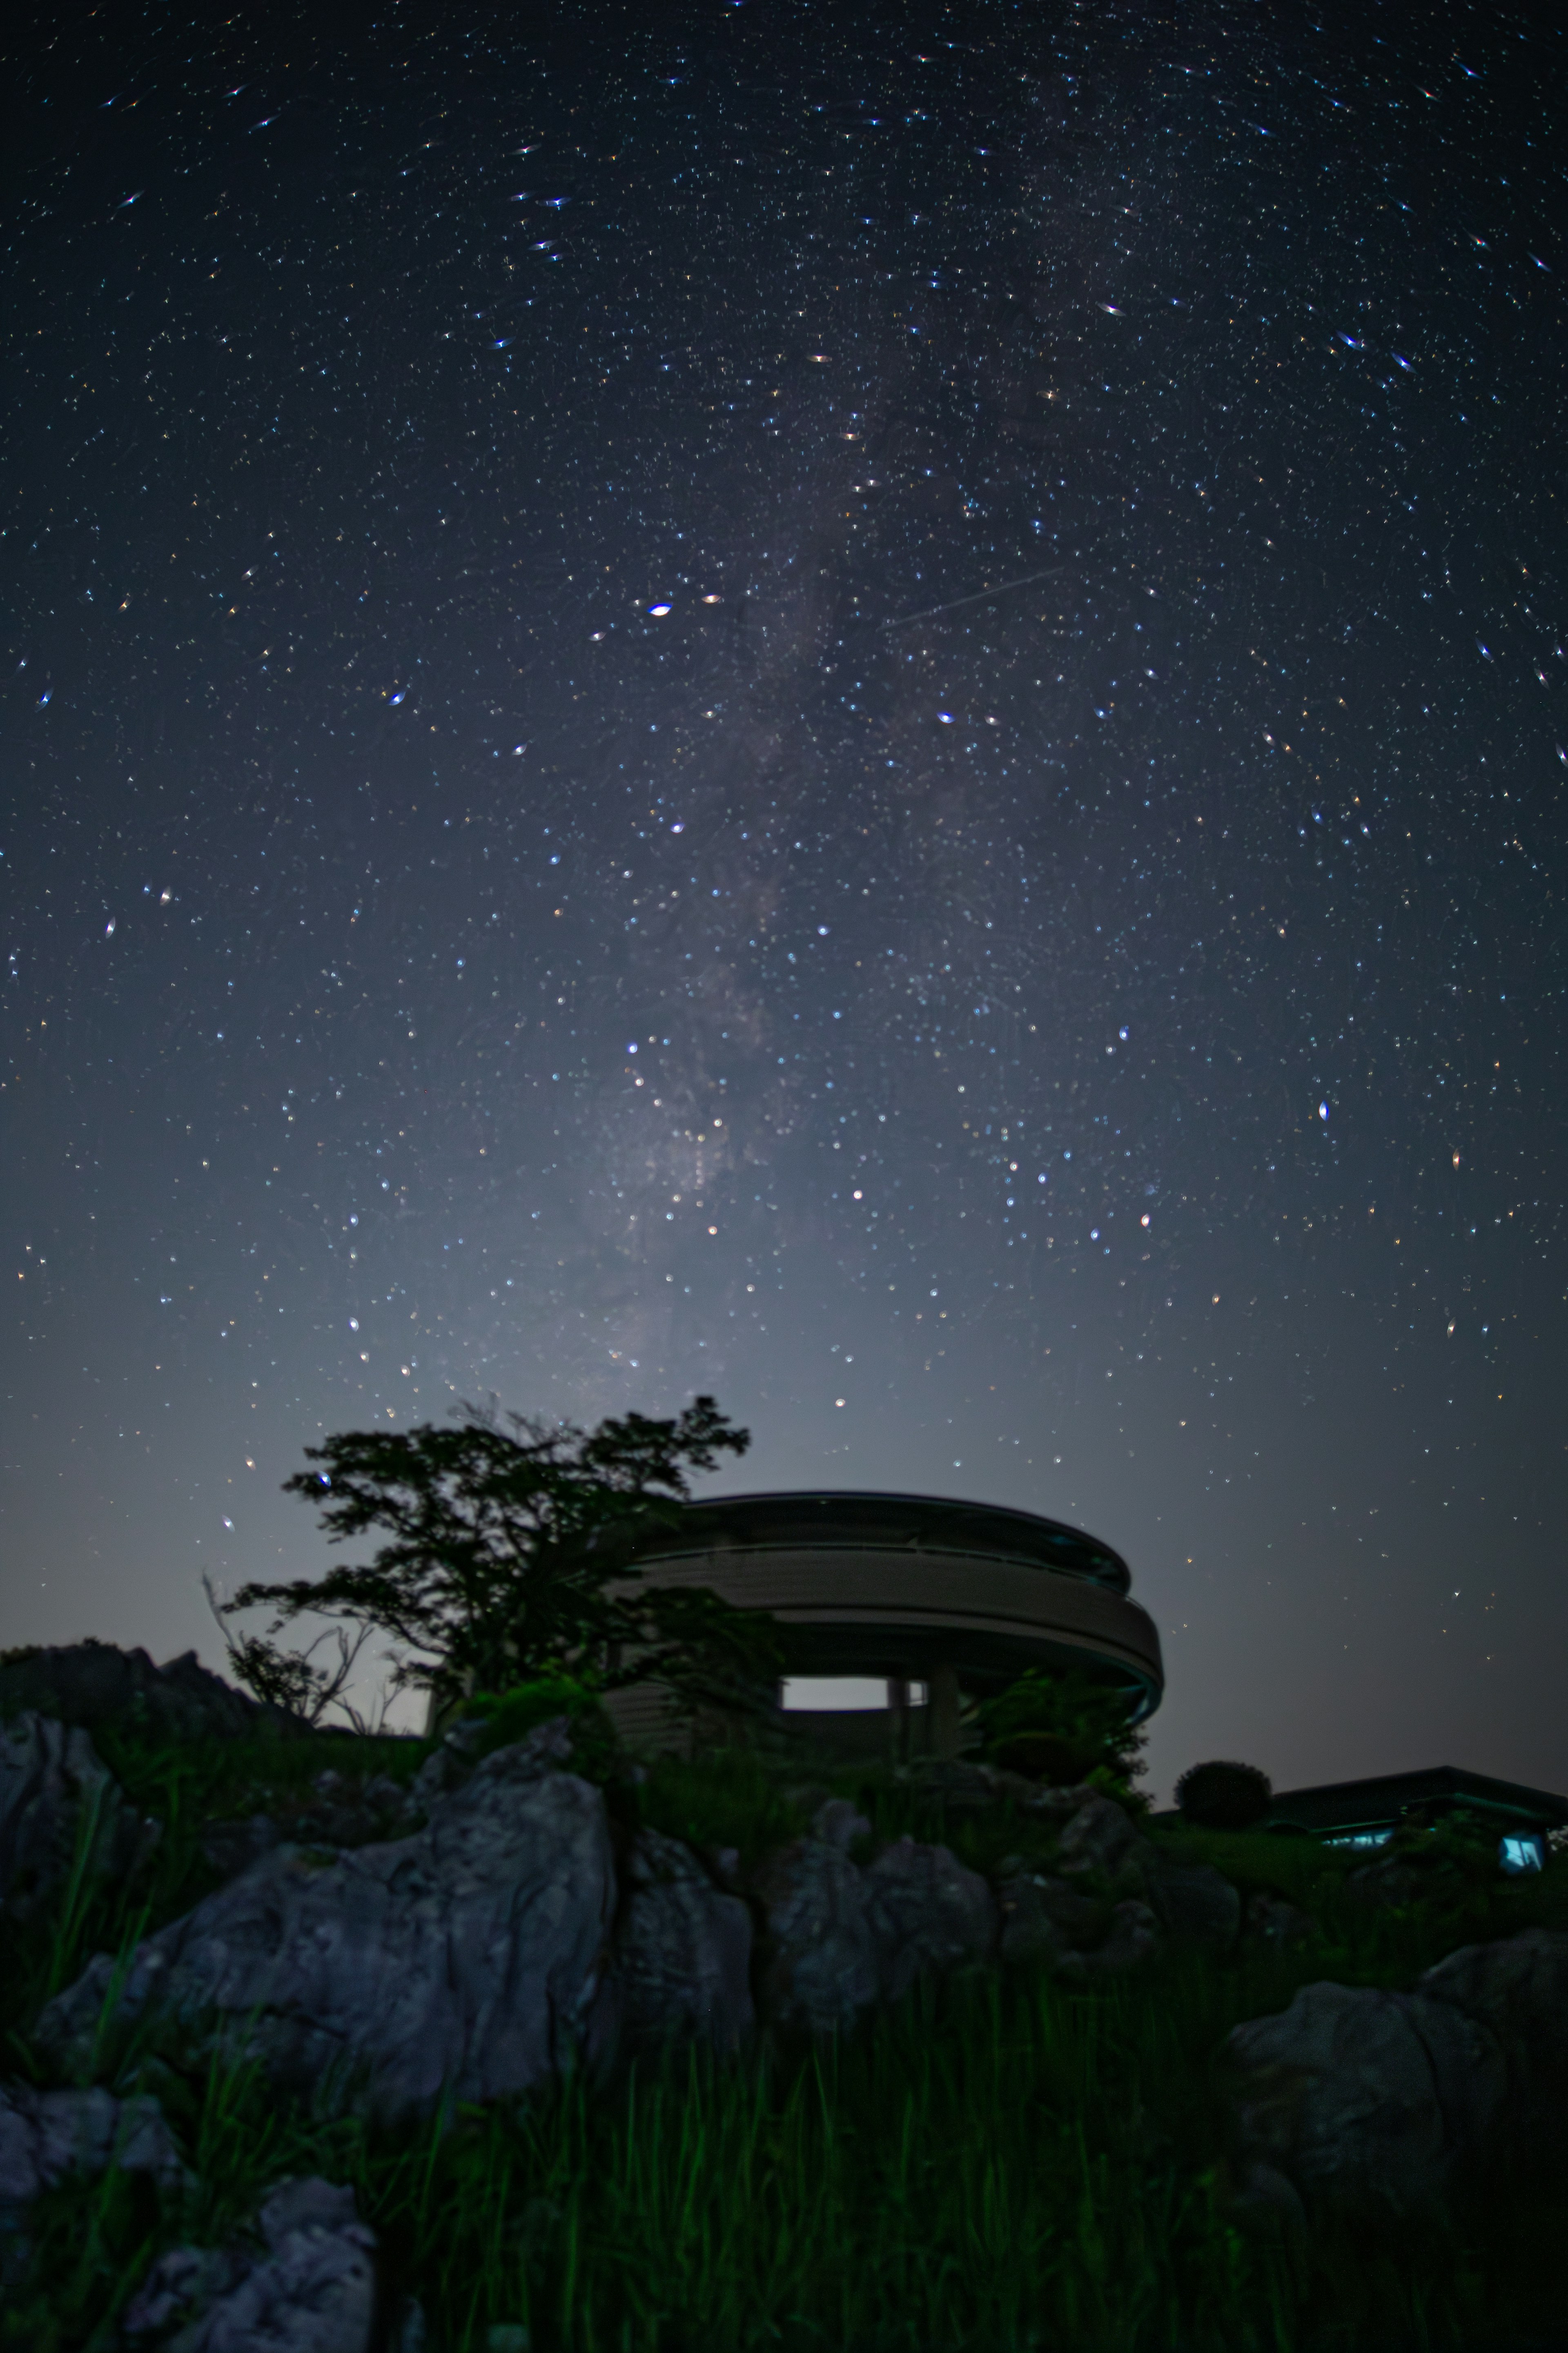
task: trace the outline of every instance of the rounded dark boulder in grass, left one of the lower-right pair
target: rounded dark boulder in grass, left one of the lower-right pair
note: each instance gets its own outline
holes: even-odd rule
[[[1486,2026],[1441,2000],[1373,1986],[1302,1986],[1291,2007],[1237,2026],[1244,2167],[1307,2200],[1408,2212],[1448,2191],[1497,2122],[1507,2071]]]

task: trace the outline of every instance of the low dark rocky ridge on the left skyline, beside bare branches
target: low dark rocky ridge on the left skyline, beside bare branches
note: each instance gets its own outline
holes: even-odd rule
[[[113,1722],[167,1741],[256,1739],[261,1732],[299,1737],[310,1729],[287,1708],[266,1708],[235,1692],[193,1649],[153,1666],[146,1649],[118,1649],[113,1642],[71,1642],[9,1659],[0,1666],[0,1715],[21,1708],[85,1732]]]

